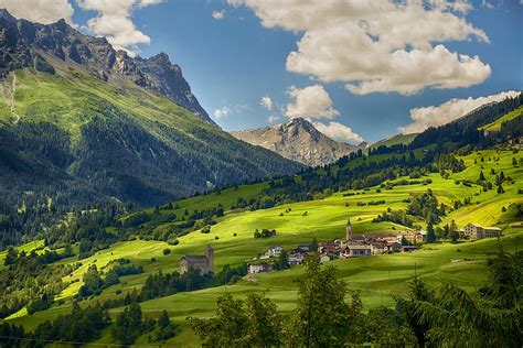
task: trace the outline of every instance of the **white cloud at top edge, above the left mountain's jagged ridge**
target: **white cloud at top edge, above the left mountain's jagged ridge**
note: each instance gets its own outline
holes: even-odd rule
[[[76,0],[84,10],[98,12],[87,21],[88,29],[96,35],[106,36],[116,50],[125,50],[135,56],[138,44],[149,44],[151,39],[143,34],[131,20],[136,8],[145,8],[162,0]]]

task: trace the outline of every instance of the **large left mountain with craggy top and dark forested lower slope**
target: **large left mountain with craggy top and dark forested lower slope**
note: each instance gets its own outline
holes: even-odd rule
[[[64,21],[1,11],[0,59],[2,213],[156,205],[302,167],[206,120],[164,54],[131,58]]]

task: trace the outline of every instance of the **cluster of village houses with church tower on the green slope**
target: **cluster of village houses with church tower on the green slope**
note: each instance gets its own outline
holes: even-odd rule
[[[458,233],[461,239],[483,239],[497,238],[501,236],[498,227],[483,227],[479,224],[470,222]],[[307,255],[319,253],[320,261],[329,262],[337,259],[351,259],[370,255],[383,255],[395,252],[414,252],[426,241],[427,231],[403,230],[396,236],[365,237],[354,236],[350,218],[345,226],[345,238],[335,239],[322,243],[299,244],[296,249],[286,254],[288,267],[301,264]],[[265,254],[254,258],[248,265],[248,273],[256,274],[277,270],[276,259],[286,251],[280,246],[269,247]],[[257,262],[253,262],[257,261]]]

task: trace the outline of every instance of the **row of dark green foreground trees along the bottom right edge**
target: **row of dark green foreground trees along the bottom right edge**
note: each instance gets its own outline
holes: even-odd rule
[[[365,314],[360,295],[335,279],[333,267],[308,258],[290,314],[262,294],[245,301],[225,294],[214,317],[188,322],[206,347],[521,347],[522,262],[523,252],[500,253],[473,294],[450,284],[433,290],[414,278],[406,296],[394,296],[394,307]]]

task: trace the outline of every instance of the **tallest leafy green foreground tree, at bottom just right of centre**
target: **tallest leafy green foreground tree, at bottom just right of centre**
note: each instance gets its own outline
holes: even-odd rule
[[[322,268],[318,255],[307,258],[298,285],[297,308],[290,318],[288,345],[343,346],[363,336],[362,303],[357,294],[345,302],[346,284],[335,279],[333,267]]]

